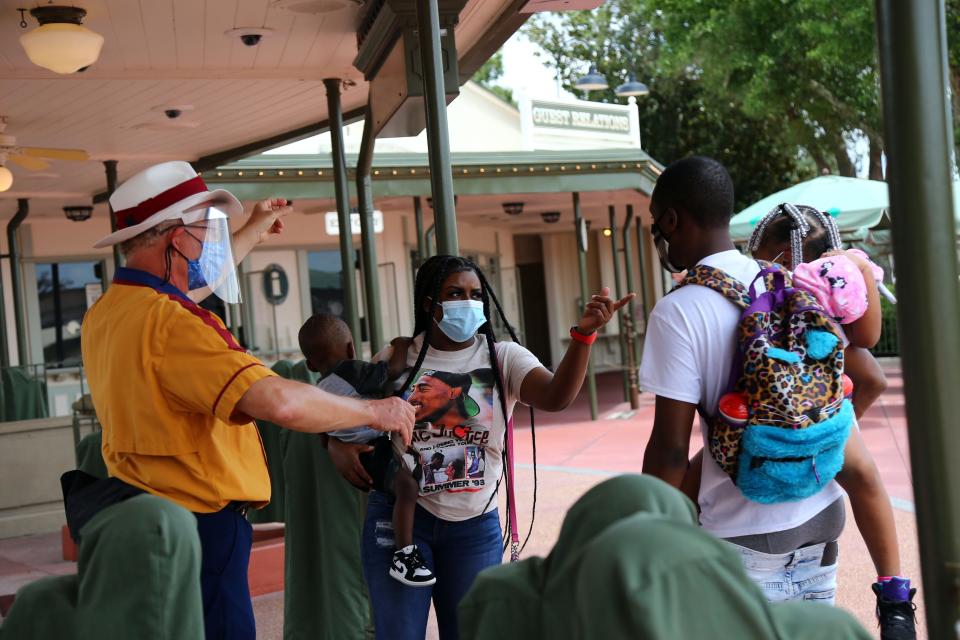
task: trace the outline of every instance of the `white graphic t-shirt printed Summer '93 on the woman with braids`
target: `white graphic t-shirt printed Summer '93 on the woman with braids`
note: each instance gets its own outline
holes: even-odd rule
[[[407,353],[417,363],[423,336]],[[374,357],[390,357],[387,347]],[[496,343],[506,391],[507,415],[520,397],[523,379],[541,367],[537,357],[515,342]],[[406,381],[409,372],[400,377]],[[500,409],[486,338],[460,351],[430,348],[404,397],[417,406],[413,446],[423,475],[418,504],[443,520],[460,521],[492,511],[503,470],[506,423]],[[398,439],[394,438],[396,445]]]

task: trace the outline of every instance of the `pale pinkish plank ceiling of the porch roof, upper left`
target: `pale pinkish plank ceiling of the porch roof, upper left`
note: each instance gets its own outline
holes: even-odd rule
[[[0,217],[31,198],[31,215],[62,215],[67,203],[102,191],[100,161],[119,161],[121,181],[154,162],[198,158],[322,122],[324,78],[352,80],[345,112],[366,102],[353,68],[357,8],[310,15],[272,8],[270,0],[82,0],[84,24],[105,38],[99,61],[59,76],[29,62],[18,38],[19,7],[0,0],[0,115],[7,134],[27,146],[85,149],[90,162],[53,161],[31,175],[11,166],[14,186],[0,193]],[[494,28],[511,0],[470,0],[457,27],[463,58]],[[36,21],[27,16],[29,28]],[[225,32],[273,31],[256,47]],[[507,34],[509,35],[509,34]],[[176,120],[163,110],[188,107]]]

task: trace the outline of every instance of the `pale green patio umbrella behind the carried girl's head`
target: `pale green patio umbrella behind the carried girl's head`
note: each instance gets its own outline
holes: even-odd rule
[[[957,189],[954,189],[956,195]],[[875,227],[890,204],[887,183],[863,178],[820,176],[753,203],[730,221],[730,235],[746,241],[763,216],[778,204],[806,204],[829,212],[837,220],[841,233]]]

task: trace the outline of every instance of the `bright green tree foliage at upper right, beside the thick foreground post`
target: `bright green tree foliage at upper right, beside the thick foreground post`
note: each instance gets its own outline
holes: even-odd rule
[[[674,64],[748,114],[775,114],[818,168],[855,175],[849,142],[870,144],[882,179],[880,91],[870,0],[664,0]]]

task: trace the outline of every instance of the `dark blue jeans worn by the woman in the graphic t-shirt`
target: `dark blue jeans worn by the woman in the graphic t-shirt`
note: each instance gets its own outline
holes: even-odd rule
[[[500,564],[503,558],[497,510],[449,522],[417,507],[413,541],[437,576],[432,587],[410,587],[390,577],[395,550],[392,518],[393,500],[381,492],[371,492],[361,553],[377,638],[423,640],[432,597],[441,640],[456,640],[460,600],[480,571]]]

